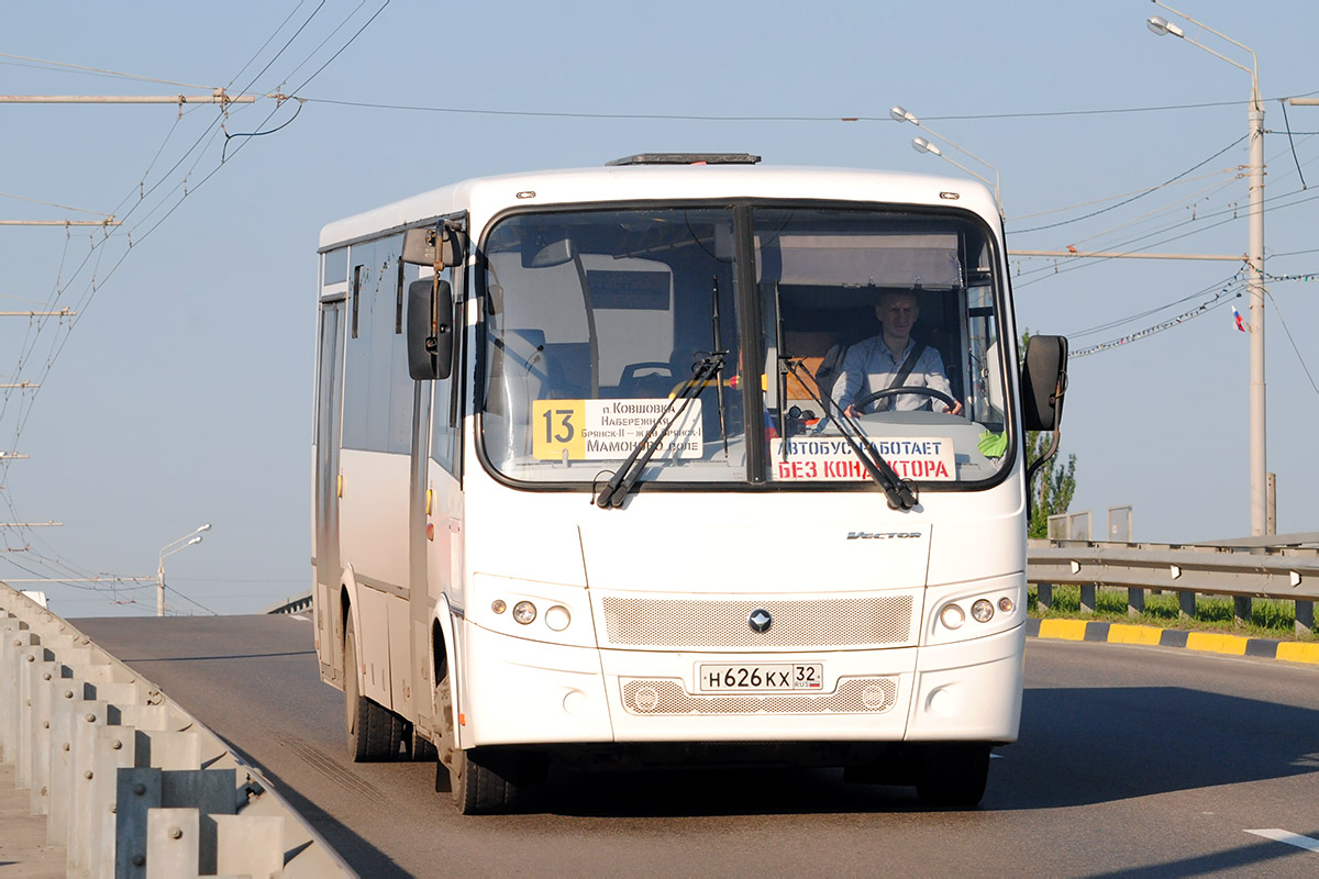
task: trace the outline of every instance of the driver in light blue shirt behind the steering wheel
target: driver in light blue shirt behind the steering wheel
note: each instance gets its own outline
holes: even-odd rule
[[[857,411],[857,399],[878,390],[894,386],[894,380],[902,372],[902,365],[909,357],[915,357],[910,373],[898,382],[902,387],[929,387],[952,397],[952,387],[943,372],[943,357],[931,345],[911,339],[911,327],[921,316],[921,304],[914,293],[886,291],[874,307],[874,316],[884,324],[882,331],[873,339],[857,343],[843,354],[839,366],[838,380],[834,383],[834,402],[843,411],[855,418],[863,412]],[[938,398],[925,394],[900,394],[897,397],[880,398],[865,406],[867,411],[911,411],[930,409],[962,414],[962,403],[954,401],[954,406]]]

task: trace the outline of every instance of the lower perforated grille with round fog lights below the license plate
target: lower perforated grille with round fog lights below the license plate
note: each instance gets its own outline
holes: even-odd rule
[[[623,680],[629,714],[882,714],[898,696],[896,677],[845,677],[832,693],[694,695],[682,681]]]

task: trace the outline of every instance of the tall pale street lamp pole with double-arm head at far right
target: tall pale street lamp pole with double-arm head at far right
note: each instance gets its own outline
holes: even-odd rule
[[[1250,74],[1250,107],[1246,120],[1250,130],[1250,249],[1246,254],[1249,266],[1246,290],[1250,294],[1250,534],[1262,535],[1268,531],[1268,461],[1265,445],[1265,386],[1264,386],[1264,104],[1260,100],[1260,62],[1254,50],[1221,34],[1184,12],[1151,0],[1175,16],[1207,30],[1239,49],[1250,53],[1250,66],[1232,61],[1208,46],[1187,37],[1186,32],[1171,24],[1163,16],[1151,16],[1145,24],[1159,37],[1173,36],[1198,46],[1215,58],[1221,58],[1233,67]]]

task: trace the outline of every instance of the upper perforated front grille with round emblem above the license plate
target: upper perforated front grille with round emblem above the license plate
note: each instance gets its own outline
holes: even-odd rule
[[[914,643],[910,593],[869,598],[720,601],[700,598],[603,600],[604,634],[615,647],[867,647]],[[773,622],[753,631],[757,610]]]

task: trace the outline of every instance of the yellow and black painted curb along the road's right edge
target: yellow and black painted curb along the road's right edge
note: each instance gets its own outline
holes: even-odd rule
[[[1088,622],[1086,619],[1028,619],[1028,638],[1058,640],[1103,640],[1111,644],[1146,644],[1151,647],[1184,647],[1228,656],[1258,656],[1289,663],[1319,666],[1319,643],[1274,640],[1272,638],[1245,638],[1213,631],[1187,631],[1184,629],[1157,629],[1130,626],[1119,622]]]

